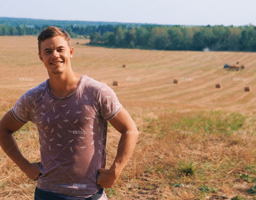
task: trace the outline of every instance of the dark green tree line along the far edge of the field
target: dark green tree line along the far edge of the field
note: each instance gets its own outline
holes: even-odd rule
[[[34,35],[49,25],[0,24],[0,35]],[[188,26],[188,25],[67,25],[72,38],[90,38],[90,45],[118,48],[157,50],[256,51],[256,27],[248,26]]]

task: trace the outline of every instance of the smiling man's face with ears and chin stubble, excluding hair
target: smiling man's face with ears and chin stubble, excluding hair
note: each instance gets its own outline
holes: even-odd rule
[[[47,38],[41,42],[40,60],[46,69],[53,74],[61,74],[70,68],[70,58],[73,57],[74,48],[69,48],[67,41],[61,36]]]

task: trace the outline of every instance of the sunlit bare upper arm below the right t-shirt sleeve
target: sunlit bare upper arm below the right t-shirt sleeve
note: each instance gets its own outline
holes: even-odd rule
[[[122,107],[118,114],[109,120],[109,122],[119,133],[133,130],[134,128],[137,129],[133,119],[124,107]]]

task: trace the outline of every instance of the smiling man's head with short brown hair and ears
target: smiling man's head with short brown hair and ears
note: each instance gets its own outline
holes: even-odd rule
[[[38,55],[48,73],[61,74],[71,69],[70,58],[73,57],[74,48],[71,47],[71,39],[67,31],[50,26],[39,34],[37,40]]]

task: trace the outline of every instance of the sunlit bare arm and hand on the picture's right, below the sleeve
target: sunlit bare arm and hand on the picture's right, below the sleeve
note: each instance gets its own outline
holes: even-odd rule
[[[125,108],[122,108],[109,122],[122,135],[118,143],[117,156],[111,168],[99,169],[100,175],[98,176],[97,184],[102,188],[111,188],[115,184],[130,159],[138,140],[137,127]]]

